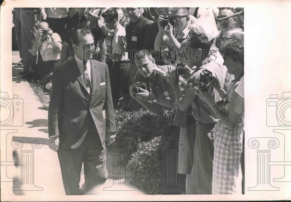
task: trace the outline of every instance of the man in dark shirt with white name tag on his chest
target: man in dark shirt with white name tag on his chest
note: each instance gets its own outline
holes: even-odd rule
[[[126,39],[127,49],[130,52],[130,68],[129,68],[129,84],[134,84],[138,81],[145,81],[141,75],[136,77],[136,64],[134,62],[134,54],[132,50],[143,49],[143,43],[145,39],[145,32],[149,24],[152,22],[141,15],[141,8],[126,8],[127,16],[130,22],[127,24]]]

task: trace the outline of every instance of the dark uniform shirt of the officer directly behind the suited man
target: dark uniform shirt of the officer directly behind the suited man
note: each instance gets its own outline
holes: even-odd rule
[[[70,56],[73,56],[73,48],[71,44],[71,35],[72,32],[77,29],[88,29],[92,32],[95,43],[98,42],[99,39],[106,37],[108,32],[104,26],[104,23],[100,19],[99,16],[95,16],[91,12],[87,11],[80,19],[78,18],[78,14],[76,13],[72,17],[68,18],[68,22],[65,26],[65,29],[62,33],[62,39],[70,44],[69,53]]]

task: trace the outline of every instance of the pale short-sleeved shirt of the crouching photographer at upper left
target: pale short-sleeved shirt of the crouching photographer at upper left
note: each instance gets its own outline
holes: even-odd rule
[[[56,42],[61,42],[62,39],[58,33],[53,33],[52,37]],[[40,55],[42,57],[42,61],[52,61],[52,60],[59,60],[61,56],[61,52],[54,48],[54,44],[52,43],[52,38],[47,37],[45,41],[42,40],[41,37],[38,38],[38,45]]]

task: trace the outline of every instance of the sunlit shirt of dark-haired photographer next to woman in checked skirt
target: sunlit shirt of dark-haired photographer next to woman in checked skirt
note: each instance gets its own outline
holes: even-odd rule
[[[197,69],[193,74],[192,78],[198,83],[200,73],[207,69],[212,72],[212,76],[216,76],[220,84],[224,83],[224,74],[223,74],[223,63],[219,63],[216,60],[210,60],[209,58],[205,60],[204,64]],[[209,91],[208,95],[215,101],[219,101],[221,98],[216,90]],[[193,117],[201,123],[214,123],[217,122],[217,117],[208,104],[200,100],[199,96],[196,96],[194,101],[191,103],[192,106],[192,115]]]

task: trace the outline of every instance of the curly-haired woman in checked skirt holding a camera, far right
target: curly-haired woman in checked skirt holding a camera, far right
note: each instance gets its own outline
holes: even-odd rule
[[[235,194],[239,193],[241,188],[239,165],[244,131],[243,113],[237,113],[235,110],[238,98],[235,89],[244,75],[244,44],[240,40],[231,40],[223,44],[219,51],[223,55],[228,72],[234,75],[227,91],[224,91],[219,81],[214,78],[214,89],[226,99],[225,104],[217,105],[215,100],[199,88],[195,93],[219,118],[214,127],[212,194]]]

